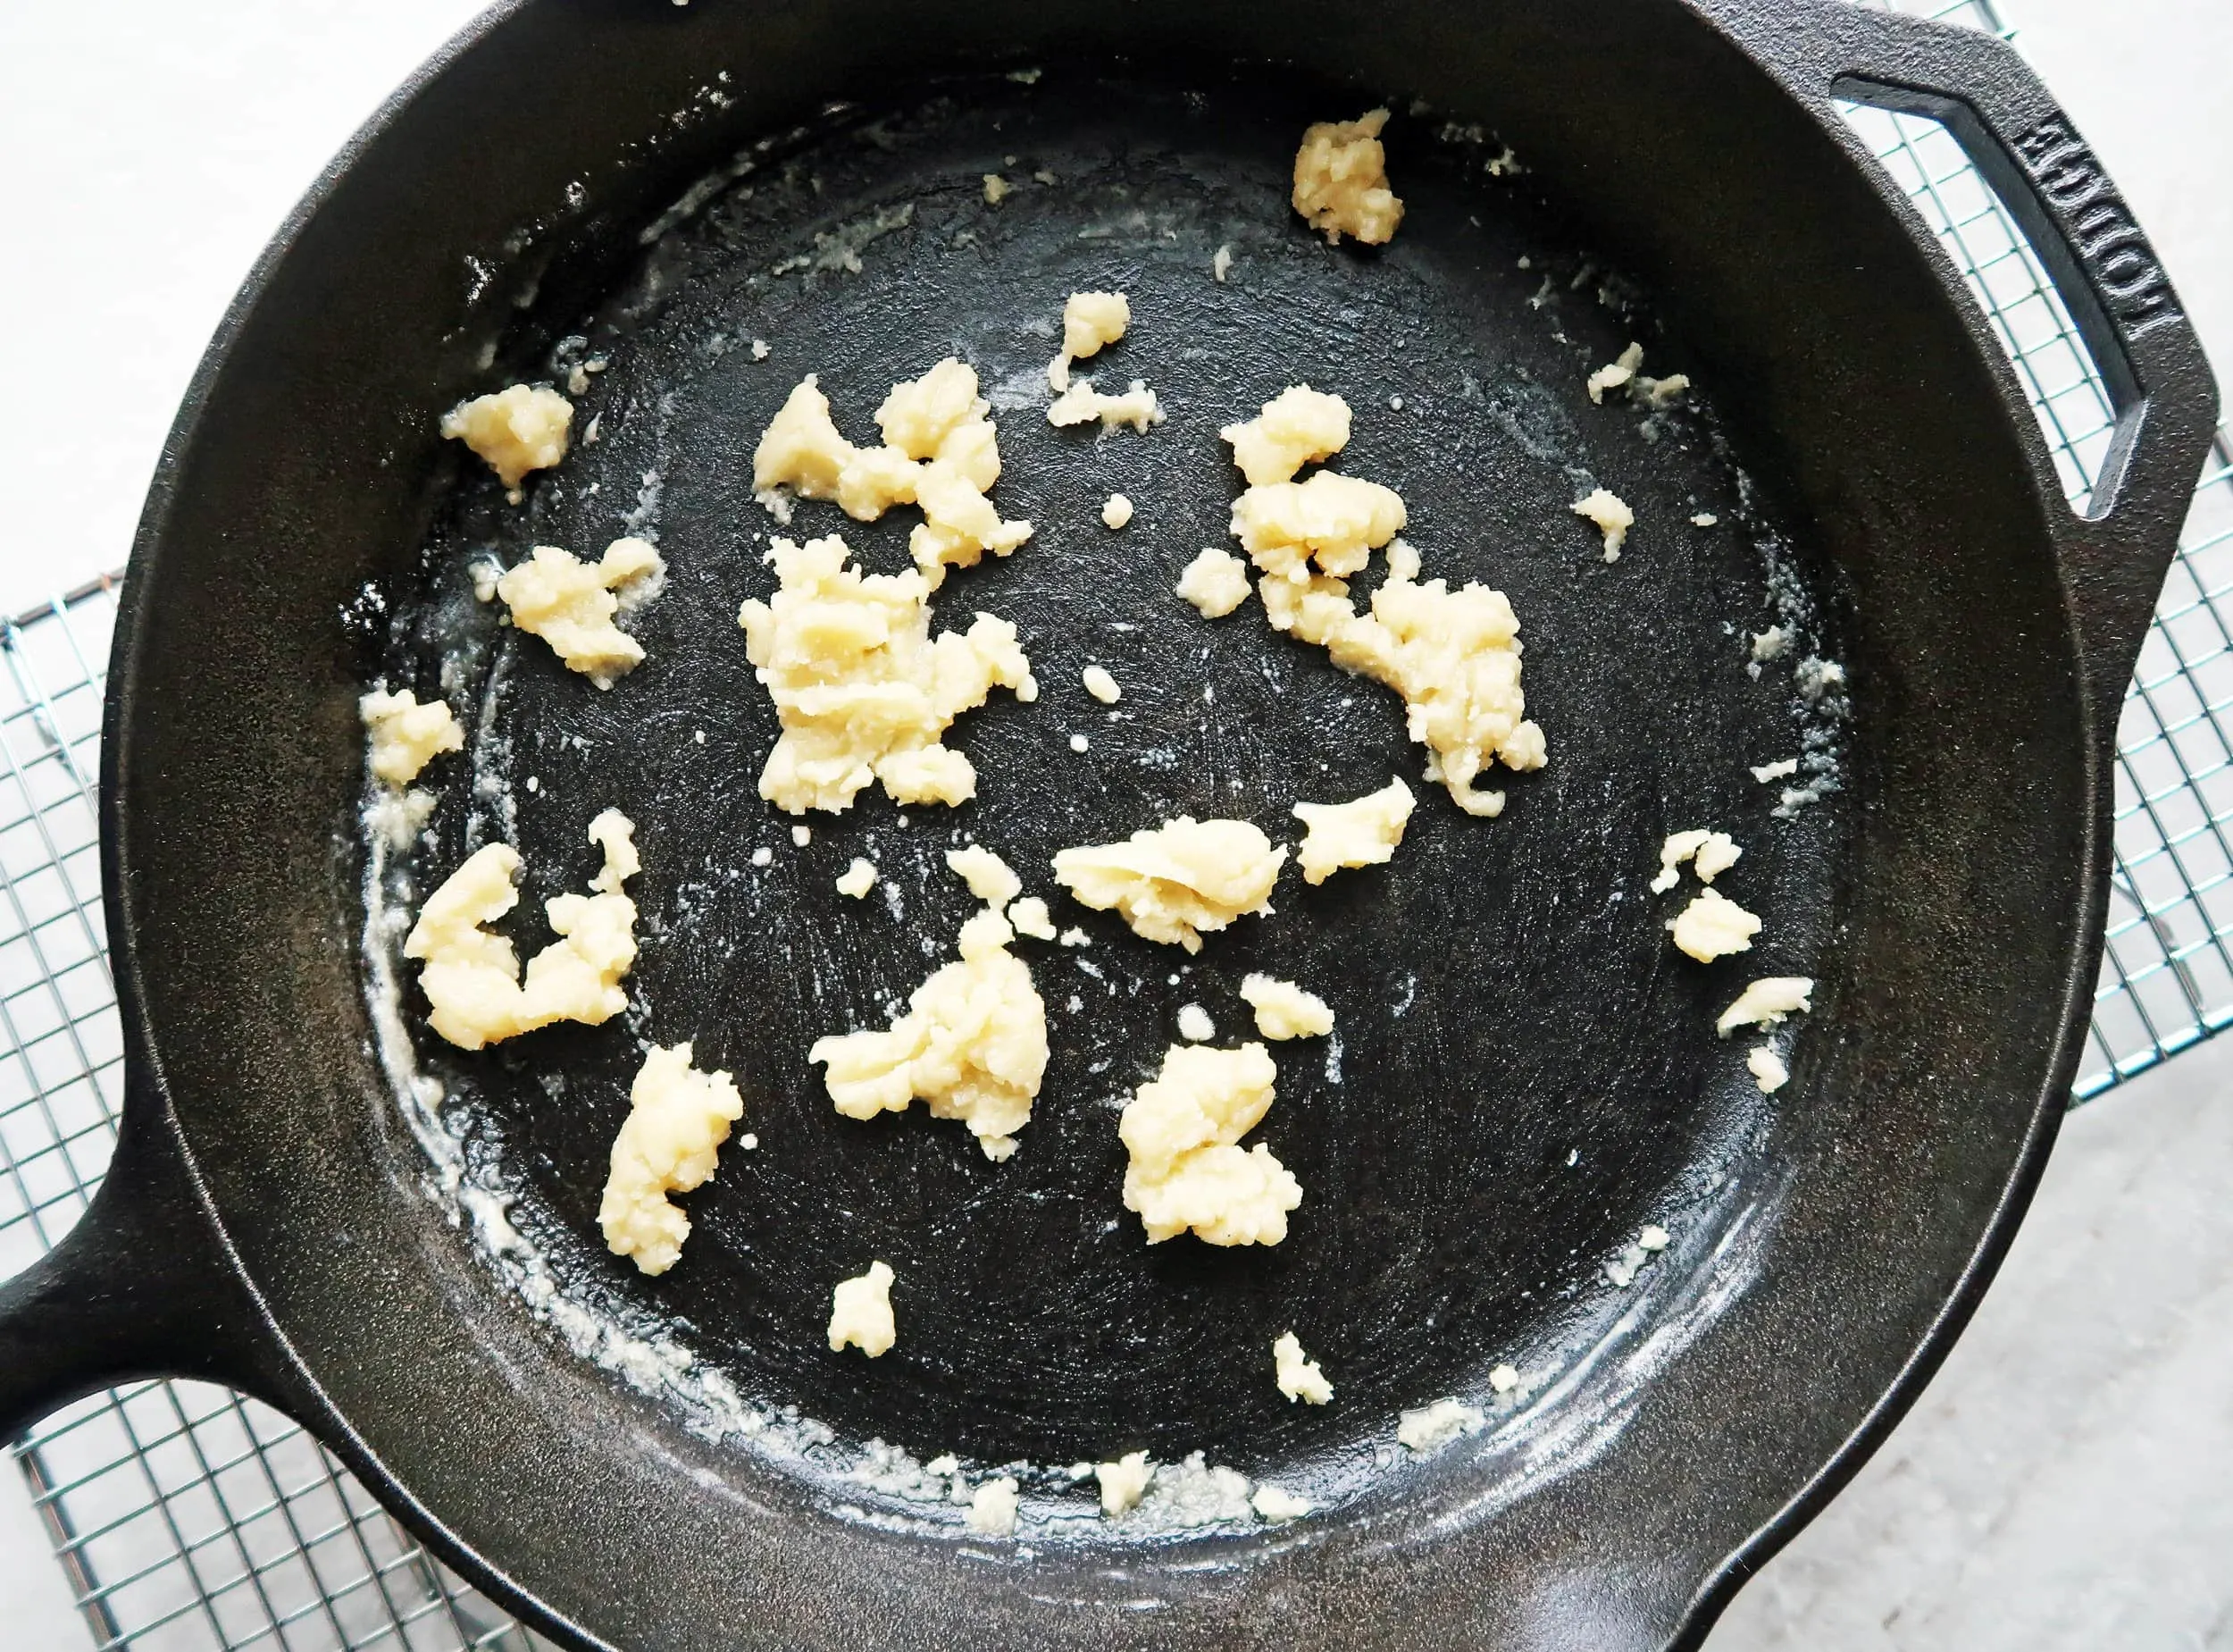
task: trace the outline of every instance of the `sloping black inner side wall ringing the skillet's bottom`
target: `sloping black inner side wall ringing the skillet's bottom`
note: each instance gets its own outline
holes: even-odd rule
[[[1023,63],[1023,42],[1105,51],[1119,31],[1154,56],[1295,56],[1485,118],[1655,279],[1746,460],[1851,585],[1865,801],[1811,1040],[1829,1049],[1833,1029],[1836,1047],[1760,1159],[1764,1279],[1612,1449],[1512,1518],[1467,1523],[1465,1487],[1431,1482],[1422,1505],[1451,1516],[1431,1547],[1333,1529],[1233,1572],[1139,1565],[1121,1587],[1050,1560],[1034,1601],[1020,1572],[764,1518],[788,1487],[552,1348],[442,1228],[360,1005],[337,851],[357,665],[337,612],[409,560],[442,462],[429,411],[478,386],[469,357],[505,295],[471,310],[462,252],[496,259],[574,179],[625,219],[726,152],[721,134],[808,112],[871,58]],[[721,134],[630,150],[719,67],[737,96]],[[491,116],[538,141],[491,145]],[[619,179],[616,154],[634,156]],[[125,996],[360,1464],[614,1643],[1125,1645],[1114,1601],[1152,1589],[1190,1601],[1188,1630],[1217,1645],[1655,1645],[1876,1404],[2005,1194],[2057,1078],[2095,806],[2030,449],[1891,210],[1673,0],[1378,7],[1369,27],[1161,0],[529,7],[368,141],[232,328],[134,560],[109,822]],[[310,1386],[284,1398],[317,1404]],[[1496,1587],[1454,1594],[1454,1576]],[[1351,1616],[1360,1589],[1371,1623]],[[1050,1612],[1061,1594],[1105,1610]]]

